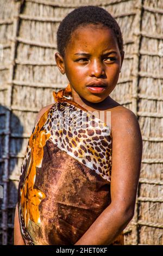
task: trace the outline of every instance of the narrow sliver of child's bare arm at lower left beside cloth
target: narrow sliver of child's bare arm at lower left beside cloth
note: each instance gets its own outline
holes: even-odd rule
[[[14,245],[25,245],[20,231],[20,223],[18,220],[18,209],[16,205],[14,217]]]

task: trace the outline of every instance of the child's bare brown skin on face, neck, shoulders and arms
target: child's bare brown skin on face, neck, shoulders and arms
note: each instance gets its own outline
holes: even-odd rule
[[[111,203],[75,245],[110,245],[134,216],[142,157],[140,126],[132,111],[109,96],[116,87],[123,58],[114,33],[102,25],[77,28],[65,48],[65,56],[55,53],[61,74],[66,74],[70,82],[73,100],[89,111],[111,113]],[[86,85],[94,80],[103,81],[106,90],[100,94],[89,92]],[[36,121],[52,105],[41,109]],[[17,209],[15,237],[15,245],[24,244]]]

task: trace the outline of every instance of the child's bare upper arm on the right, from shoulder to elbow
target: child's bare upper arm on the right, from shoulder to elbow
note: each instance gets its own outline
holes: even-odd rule
[[[129,109],[111,120],[111,203],[133,216],[142,159],[139,122]]]

